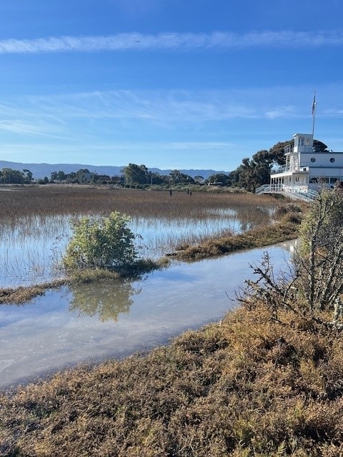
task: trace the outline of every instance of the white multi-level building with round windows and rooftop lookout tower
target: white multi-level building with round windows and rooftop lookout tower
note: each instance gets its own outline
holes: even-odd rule
[[[282,171],[270,177],[271,191],[307,192],[343,181],[343,152],[314,151],[312,134],[294,134],[293,138],[294,145],[285,149]]]

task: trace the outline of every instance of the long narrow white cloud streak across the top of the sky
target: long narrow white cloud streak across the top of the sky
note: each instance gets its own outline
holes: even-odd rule
[[[191,51],[192,49],[304,48],[342,46],[343,31],[262,31],[236,34],[117,34],[109,36],[51,36],[0,41],[0,54],[96,51]]]

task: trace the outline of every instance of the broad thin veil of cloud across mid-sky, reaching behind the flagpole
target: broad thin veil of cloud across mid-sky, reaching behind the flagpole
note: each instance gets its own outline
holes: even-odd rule
[[[342,119],[342,85],[322,87],[320,94],[317,115],[322,119]],[[0,131],[76,143],[136,136],[138,132],[142,136],[158,136],[161,131],[185,133],[189,129],[201,132],[205,126],[212,129],[216,122],[216,129],[227,129],[232,122],[241,120],[309,119],[311,97],[311,88],[307,86],[225,91],[91,91],[16,99],[12,96],[11,103],[0,104]],[[285,105],[284,99],[291,103]]]

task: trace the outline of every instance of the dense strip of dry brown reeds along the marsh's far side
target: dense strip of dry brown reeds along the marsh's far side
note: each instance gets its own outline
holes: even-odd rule
[[[128,216],[208,218],[209,211],[233,209],[247,216],[266,221],[266,212],[276,202],[253,194],[223,194],[186,191],[141,191],[92,186],[30,186],[14,187],[1,192],[0,216],[14,219],[23,216],[56,214],[109,214],[119,211]]]

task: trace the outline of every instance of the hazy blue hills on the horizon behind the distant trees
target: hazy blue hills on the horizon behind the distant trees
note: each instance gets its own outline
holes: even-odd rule
[[[69,174],[72,171],[78,171],[80,169],[88,169],[91,173],[96,172],[97,174],[106,174],[109,176],[117,176],[121,174],[121,170],[124,169],[125,165],[122,166],[99,166],[99,165],[85,165],[85,164],[22,164],[21,162],[9,162],[0,160],[0,169],[14,169],[23,171],[25,169],[31,171],[34,179],[44,178],[47,176],[50,178],[50,175],[53,171],[64,171],[64,173]],[[149,168],[149,171],[159,174],[169,174],[170,170],[161,170]],[[202,176],[204,179],[207,179],[209,176],[215,173],[229,173],[228,171],[217,171],[217,170],[181,170],[184,174],[189,176]]]

